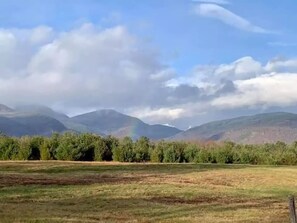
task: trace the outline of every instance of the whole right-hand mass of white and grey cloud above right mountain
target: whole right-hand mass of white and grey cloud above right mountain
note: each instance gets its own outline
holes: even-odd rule
[[[202,96],[183,104],[185,116],[216,110],[297,106],[297,60],[276,58],[266,64],[243,57],[229,64],[197,66],[171,86],[195,84]],[[219,112],[218,112],[219,113]]]

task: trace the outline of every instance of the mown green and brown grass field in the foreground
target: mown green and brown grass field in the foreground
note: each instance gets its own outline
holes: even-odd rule
[[[0,222],[289,222],[297,168],[1,162]]]

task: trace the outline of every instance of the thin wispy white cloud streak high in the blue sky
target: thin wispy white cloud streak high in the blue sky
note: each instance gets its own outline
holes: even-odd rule
[[[248,32],[255,32],[255,33],[270,33],[270,31],[264,28],[261,28],[259,26],[253,25],[247,19],[244,19],[239,15],[217,4],[211,4],[211,3],[197,4],[194,10],[197,15],[217,19],[237,29],[241,29]]]

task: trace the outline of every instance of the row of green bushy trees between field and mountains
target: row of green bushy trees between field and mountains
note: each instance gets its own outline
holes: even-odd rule
[[[0,135],[0,160],[70,160],[157,163],[297,165],[297,142],[244,145],[234,142],[150,141],[84,133],[51,137]]]

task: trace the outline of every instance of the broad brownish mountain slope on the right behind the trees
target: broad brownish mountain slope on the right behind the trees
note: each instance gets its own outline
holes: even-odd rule
[[[172,137],[175,140],[232,140],[239,143],[297,140],[297,115],[285,112],[258,114],[210,122]]]

